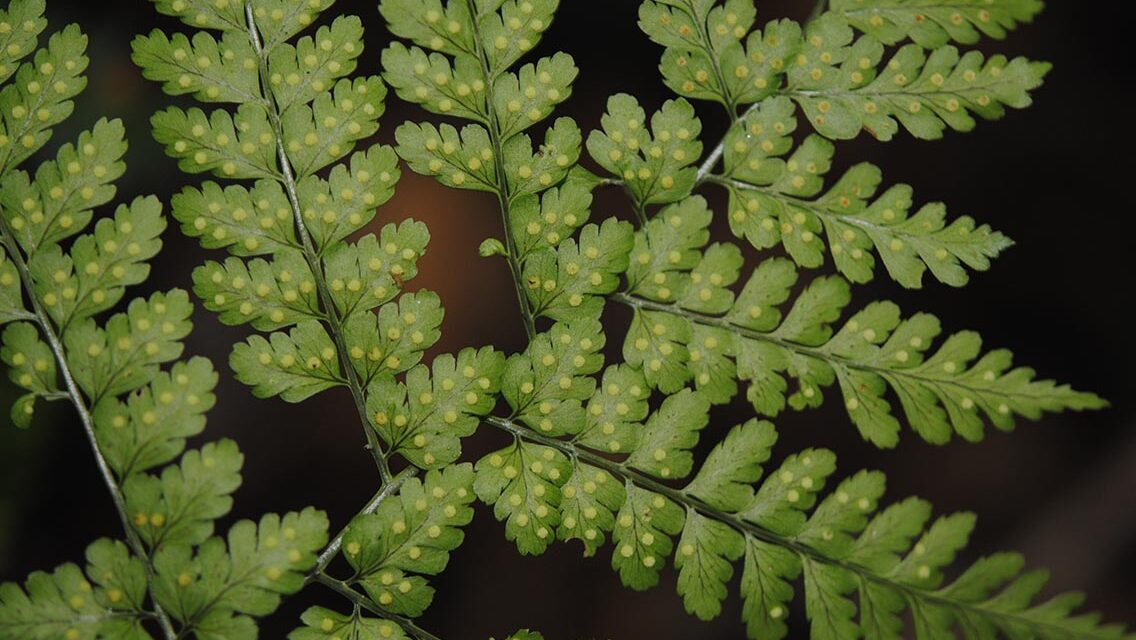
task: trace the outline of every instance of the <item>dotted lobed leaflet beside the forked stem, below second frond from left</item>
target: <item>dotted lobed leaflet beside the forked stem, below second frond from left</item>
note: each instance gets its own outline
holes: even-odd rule
[[[434,598],[424,576],[445,568],[473,520],[473,482],[468,464],[431,471],[425,481],[404,482],[398,500],[352,521],[343,537],[352,582],[390,612],[421,615]]]

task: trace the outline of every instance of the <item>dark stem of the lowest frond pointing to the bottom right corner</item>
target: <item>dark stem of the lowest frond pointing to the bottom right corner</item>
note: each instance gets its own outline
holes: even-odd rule
[[[729,526],[730,529],[734,529],[735,531],[742,533],[743,535],[747,535],[755,540],[760,540],[769,545],[788,549],[794,554],[796,554],[799,557],[801,557],[803,560],[808,560],[805,565],[808,565],[808,563],[811,562],[811,563],[838,567],[849,573],[852,573],[853,575],[858,576],[861,581],[874,582],[893,591],[897,591],[903,595],[903,597],[908,600],[909,604],[919,601],[921,604],[929,604],[934,606],[951,608],[960,613],[964,612],[968,615],[983,616],[992,621],[1010,620],[1013,621],[1014,626],[1026,626],[1038,631],[1045,631],[1046,633],[1042,634],[1042,637],[1049,637],[1050,634],[1056,634],[1054,637],[1069,637],[1070,629],[1064,626],[1037,621],[1021,614],[991,610],[985,608],[982,604],[952,600],[945,596],[938,595],[938,592],[936,591],[920,589],[918,587],[913,587],[904,582],[892,580],[884,575],[874,574],[869,567],[859,565],[857,563],[826,556],[821,551],[808,545],[804,545],[792,538],[786,538],[784,535],[763,529],[762,526],[757,525],[743,518],[738,514],[730,514],[716,509],[710,505],[703,502],[699,498],[680,489],[675,489],[673,487],[663,484],[654,480],[653,477],[627,466],[626,464],[613,462],[603,456],[594,454],[587,449],[573,444],[571,442],[566,442],[563,440],[557,440],[556,438],[541,435],[540,433],[536,433],[531,429],[516,424],[506,418],[491,416],[485,419],[485,423],[495,429],[509,433],[513,438],[527,440],[529,442],[542,444],[544,447],[551,447],[553,449],[557,449],[561,454],[568,456],[571,459],[583,460],[584,463],[593,467],[601,468],[610,473],[612,476],[618,477],[625,482],[630,482],[632,484],[641,489],[645,489],[648,491],[652,491],[660,496],[665,496],[673,502],[680,505],[687,512],[695,512],[707,518],[720,522]],[[1101,640],[1104,640],[1105,635],[1093,634],[1086,638],[1100,638]]]

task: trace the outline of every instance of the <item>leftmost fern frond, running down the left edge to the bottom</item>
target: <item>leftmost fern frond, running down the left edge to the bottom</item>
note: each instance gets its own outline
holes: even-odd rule
[[[75,407],[125,542],[99,539],[85,567],[0,587],[0,637],[254,638],[251,616],[272,613],[315,564],[326,517],[310,508],[266,515],[215,535],[243,456],[229,440],[185,450],[217,383],[208,360],[178,361],[189,297],[154,293],[106,315],[149,275],[166,226],[153,197],[91,226],[125,171],[122,123],[99,120],[34,174],[19,168],[86,84],[77,26],[36,50],[43,9],[41,0],[15,0],[0,10],[0,357],[26,391],[15,424],[30,426],[39,401]]]

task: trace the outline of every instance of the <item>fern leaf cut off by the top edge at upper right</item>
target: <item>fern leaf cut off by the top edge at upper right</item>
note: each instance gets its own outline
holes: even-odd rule
[[[983,35],[1001,40],[1031,22],[1042,6],[1041,0],[836,0],[830,10],[884,44],[910,39],[935,49],[951,41],[974,44]]]

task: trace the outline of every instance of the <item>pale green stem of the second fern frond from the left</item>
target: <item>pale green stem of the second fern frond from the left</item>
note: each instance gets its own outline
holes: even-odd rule
[[[375,466],[378,467],[378,474],[385,485],[391,482],[391,467],[386,460],[386,452],[378,440],[378,434],[370,427],[370,421],[367,418],[367,398],[359,381],[359,373],[349,357],[346,336],[343,331],[343,319],[335,307],[335,299],[332,297],[331,289],[327,286],[327,279],[324,276],[324,267],[319,258],[319,252],[316,250],[315,243],[311,241],[311,234],[308,233],[308,226],[303,222],[300,198],[296,193],[295,175],[292,171],[292,163],[287,157],[287,150],[284,147],[284,127],[281,124],[279,108],[268,85],[268,53],[260,41],[260,32],[257,30],[251,2],[245,5],[245,19],[248,20],[249,38],[252,41],[253,49],[257,51],[257,56],[260,58],[261,93],[264,94],[265,109],[268,113],[268,119],[272,123],[273,133],[276,138],[276,156],[281,165],[281,174],[277,177],[281,184],[283,184],[284,191],[287,193],[289,203],[292,207],[292,218],[295,223],[296,234],[300,236],[300,244],[303,247],[303,257],[316,282],[316,290],[326,313],[324,321],[327,324],[328,333],[332,334],[332,339],[335,341],[340,367],[343,369],[348,388],[351,390],[351,398],[354,400],[356,410],[359,413],[359,419],[362,423],[364,434],[367,438],[367,450],[370,451],[371,457],[375,459]]]

